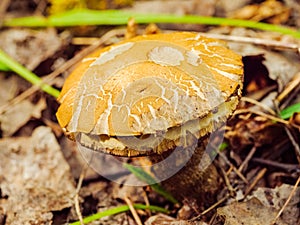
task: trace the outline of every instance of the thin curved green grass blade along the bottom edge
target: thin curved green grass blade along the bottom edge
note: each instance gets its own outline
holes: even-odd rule
[[[147,206],[147,205],[143,205],[143,204],[133,204],[133,207],[136,208],[136,209],[148,209],[148,210],[155,211],[155,212],[169,213],[169,211],[167,209],[164,209],[164,208],[159,207],[159,206],[154,206],[154,205]],[[127,205],[118,206],[118,207],[115,207],[115,208],[105,210],[103,212],[93,214],[91,216],[87,216],[83,219],[83,222],[85,224],[90,223],[90,222],[93,222],[95,220],[101,219],[105,216],[112,216],[112,215],[122,213],[122,212],[126,212],[126,211],[129,211],[129,206],[127,206]],[[80,224],[81,224],[80,221],[76,221],[76,222],[70,223],[69,225],[80,225]]]

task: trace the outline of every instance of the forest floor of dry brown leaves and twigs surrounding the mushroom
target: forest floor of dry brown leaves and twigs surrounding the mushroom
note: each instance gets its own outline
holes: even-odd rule
[[[170,30],[222,39],[242,55],[245,71],[243,96],[221,128],[224,140],[213,162],[220,190],[214,204],[199,209],[190,200],[175,204],[153,185],[124,185],[133,174],[125,174],[122,182],[99,175],[58,125],[56,97],[10,65],[0,65],[0,225],[82,220],[105,225],[300,224],[300,35],[203,24],[30,27],[5,22],[73,8],[193,14],[300,29],[297,0],[2,0],[0,49],[57,90],[96,47],[126,35]]]

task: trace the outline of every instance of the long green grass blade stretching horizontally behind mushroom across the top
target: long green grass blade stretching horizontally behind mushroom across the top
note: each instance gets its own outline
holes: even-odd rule
[[[171,14],[141,14],[121,10],[71,10],[50,17],[31,16],[22,18],[4,19],[3,26],[23,27],[65,27],[79,25],[124,25],[133,17],[137,23],[190,23],[205,25],[226,25],[247,27],[258,30],[274,31],[300,38],[300,31],[289,27],[261,23],[250,20],[229,19],[221,17],[205,17],[196,15]]]

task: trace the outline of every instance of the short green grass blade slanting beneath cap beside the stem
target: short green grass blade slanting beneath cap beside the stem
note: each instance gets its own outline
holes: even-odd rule
[[[177,204],[178,201],[166,190],[163,189],[161,185],[158,184],[158,182],[153,178],[151,175],[149,175],[147,172],[145,172],[143,169],[132,166],[130,164],[124,163],[123,166],[128,169],[133,175],[135,175],[138,179],[141,181],[146,182],[150,185],[150,187],[158,194],[162,195],[165,199],[172,202],[173,204]]]

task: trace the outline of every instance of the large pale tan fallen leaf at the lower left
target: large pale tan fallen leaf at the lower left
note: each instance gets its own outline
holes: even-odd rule
[[[6,224],[50,224],[52,211],[73,205],[74,181],[50,128],[38,127],[29,138],[1,139],[0,165]]]

